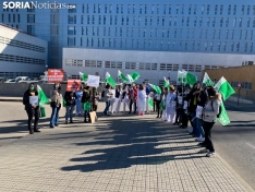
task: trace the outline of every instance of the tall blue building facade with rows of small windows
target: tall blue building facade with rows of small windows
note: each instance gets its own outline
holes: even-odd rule
[[[253,0],[58,0],[58,3],[75,9],[0,9],[2,23],[49,41],[51,68],[62,67],[63,47],[158,53],[255,53]]]

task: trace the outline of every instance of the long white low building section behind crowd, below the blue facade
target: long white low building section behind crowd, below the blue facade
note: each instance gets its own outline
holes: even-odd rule
[[[241,65],[243,61],[255,56],[230,53],[141,51],[141,50],[105,50],[84,48],[63,48],[63,69],[72,79],[78,79],[78,72],[99,75],[105,79],[106,72],[118,82],[118,70],[124,74],[138,72],[138,83],[148,81],[162,84],[163,76],[177,83],[178,70],[185,70],[202,81],[203,70],[221,69]]]

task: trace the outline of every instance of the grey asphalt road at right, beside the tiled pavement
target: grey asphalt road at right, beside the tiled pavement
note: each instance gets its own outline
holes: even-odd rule
[[[255,190],[255,107],[226,107],[231,124],[214,128],[217,153]]]

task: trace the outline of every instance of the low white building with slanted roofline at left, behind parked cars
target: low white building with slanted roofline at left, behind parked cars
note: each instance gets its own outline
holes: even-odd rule
[[[48,65],[48,43],[0,25],[0,76],[38,77]]]

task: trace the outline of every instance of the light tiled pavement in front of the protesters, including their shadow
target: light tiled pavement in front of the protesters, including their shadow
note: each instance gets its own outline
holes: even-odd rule
[[[27,135],[23,106],[0,105],[0,137],[22,136],[0,141],[0,191],[252,191],[219,156],[198,153],[186,130],[155,115],[75,118],[56,129],[41,119],[41,133]]]

